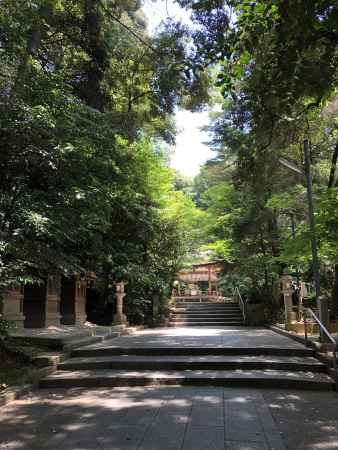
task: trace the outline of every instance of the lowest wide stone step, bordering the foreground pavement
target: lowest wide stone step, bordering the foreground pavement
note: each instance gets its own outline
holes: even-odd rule
[[[151,385],[249,386],[266,388],[333,390],[326,374],[284,370],[59,371],[40,381],[42,388],[112,387]]]

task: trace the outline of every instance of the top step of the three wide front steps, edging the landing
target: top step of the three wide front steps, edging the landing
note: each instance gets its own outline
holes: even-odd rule
[[[71,352],[72,357],[98,357],[98,356],[119,356],[119,355],[138,355],[138,356],[299,356],[307,357],[314,356],[314,351],[310,348],[299,347],[215,347],[205,345],[198,346],[182,346],[182,347],[119,347],[114,345],[104,344],[100,346],[93,346],[92,348],[79,348]]]

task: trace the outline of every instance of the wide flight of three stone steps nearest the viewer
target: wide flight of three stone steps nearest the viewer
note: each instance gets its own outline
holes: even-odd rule
[[[243,327],[239,329],[243,330]],[[201,334],[203,330],[206,329],[201,329]],[[215,333],[219,332],[219,329],[215,330]],[[264,332],[263,329],[257,331]],[[41,380],[40,386],[206,385],[334,389],[326,366],[315,358],[314,351],[296,343],[280,347],[255,347],[254,343],[252,346],[241,343],[224,346],[210,345],[206,339],[205,345],[201,345],[202,340],[194,345],[192,339],[188,340],[189,336],[185,341],[181,338],[180,342],[180,336],[170,334],[170,330],[160,344],[152,335],[147,345],[143,345],[142,336],[125,339],[127,341],[114,339],[115,345],[94,344],[73,350],[71,357],[58,365],[57,372]],[[240,341],[240,337],[238,339]]]

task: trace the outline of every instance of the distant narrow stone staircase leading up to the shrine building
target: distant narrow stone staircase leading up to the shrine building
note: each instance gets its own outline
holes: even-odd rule
[[[171,327],[241,326],[243,316],[234,302],[181,302],[171,310]]]

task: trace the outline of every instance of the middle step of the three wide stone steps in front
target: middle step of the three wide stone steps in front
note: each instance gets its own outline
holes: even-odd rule
[[[325,372],[326,366],[314,357],[300,356],[97,356],[70,358],[59,370],[257,370]]]

